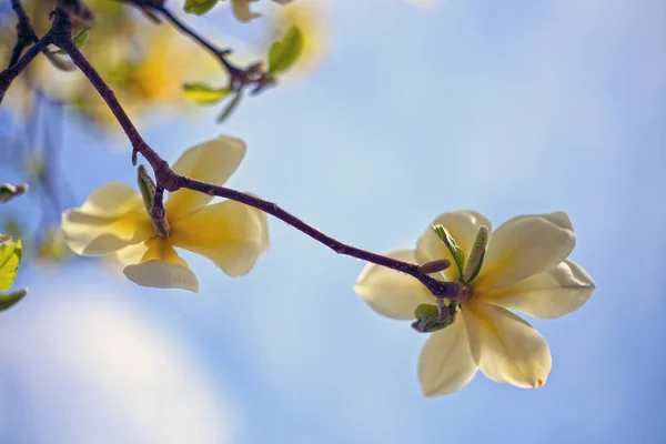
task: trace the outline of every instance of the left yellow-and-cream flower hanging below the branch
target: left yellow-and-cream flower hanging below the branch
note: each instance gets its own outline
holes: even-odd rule
[[[185,151],[173,171],[222,185],[244,154],[243,141],[222,135]],[[209,258],[230,276],[250,272],[269,248],[264,212],[230,200],[208,205],[212,199],[185,189],[169,195],[164,209],[170,231],[162,238],[141,194],[109,183],[94,190],[82,206],[62,214],[62,231],[77,254],[114,254],[125,276],[139,285],[198,292],[196,276],[174,248]]]

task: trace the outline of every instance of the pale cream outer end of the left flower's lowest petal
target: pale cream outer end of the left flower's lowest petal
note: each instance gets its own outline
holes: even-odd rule
[[[128,265],[123,273],[130,281],[141,286],[199,292],[199,281],[192,270],[174,262],[153,259],[137,265]]]

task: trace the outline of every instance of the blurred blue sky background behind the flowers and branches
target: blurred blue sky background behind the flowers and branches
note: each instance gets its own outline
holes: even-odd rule
[[[164,159],[242,138],[230,186],[376,252],[412,248],[445,211],[498,226],[563,210],[597,289],[569,316],[528,320],[553,354],[543,389],[478,374],[425,400],[425,337],[353,292],[364,264],[274,219],[248,276],[184,252],[199,294],[139,287],[62,245],[59,213],[135,185],[135,170],[82,75],[40,60],[0,108],[0,181],[31,185],[0,208],[0,231],[28,243],[30,289],[0,314],[0,442],[663,442],[664,1],[262,1],[248,24],[221,2],[181,16],[241,64],[294,20],[307,39],[293,72],[222,124],[181,92],[224,84],[208,53],[128,7],[89,6],[84,50]],[[8,57],[8,1],[0,14]]]

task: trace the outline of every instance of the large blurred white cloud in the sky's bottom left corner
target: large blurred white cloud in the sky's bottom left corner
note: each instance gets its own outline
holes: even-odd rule
[[[99,290],[31,296],[0,322],[0,437],[229,442],[228,408],[176,337]]]

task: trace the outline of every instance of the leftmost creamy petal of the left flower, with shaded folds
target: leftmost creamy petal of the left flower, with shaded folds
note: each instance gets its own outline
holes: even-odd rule
[[[154,235],[141,195],[122,183],[98,188],[81,208],[62,213],[61,223],[67,245],[80,255],[109,254]]]

